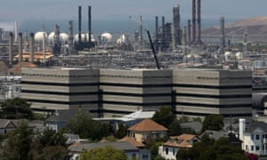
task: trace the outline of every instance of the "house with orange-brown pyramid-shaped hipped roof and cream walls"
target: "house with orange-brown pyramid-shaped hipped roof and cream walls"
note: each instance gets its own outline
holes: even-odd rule
[[[166,135],[167,128],[151,119],[144,119],[128,128],[128,136],[141,143],[149,138],[164,138]]]

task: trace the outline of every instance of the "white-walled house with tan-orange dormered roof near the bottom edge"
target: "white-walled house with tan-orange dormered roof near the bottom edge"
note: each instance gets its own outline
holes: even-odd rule
[[[171,136],[162,146],[158,148],[158,155],[165,159],[176,160],[176,155],[181,148],[192,148],[193,143],[199,141],[198,136],[193,134],[182,134]]]

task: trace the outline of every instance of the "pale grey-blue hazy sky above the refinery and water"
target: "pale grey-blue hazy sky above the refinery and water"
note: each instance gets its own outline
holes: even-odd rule
[[[196,0],[198,1],[198,0]],[[172,20],[175,4],[180,5],[182,20],[191,18],[191,0],[6,0],[0,5],[0,28],[12,21],[77,20],[78,5],[86,17],[87,6],[92,6],[93,20],[137,20],[165,16]],[[240,20],[267,15],[267,0],[202,0],[201,18]],[[2,25],[2,26],[1,26]]]

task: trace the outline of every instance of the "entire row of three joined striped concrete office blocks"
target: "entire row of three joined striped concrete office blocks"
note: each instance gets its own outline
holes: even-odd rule
[[[21,97],[35,110],[88,108],[124,116],[172,107],[177,116],[252,117],[251,71],[22,68]]]

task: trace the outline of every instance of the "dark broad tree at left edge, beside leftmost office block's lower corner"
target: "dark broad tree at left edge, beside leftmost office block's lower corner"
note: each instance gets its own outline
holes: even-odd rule
[[[5,100],[0,103],[1,116],[10,119],[32,119],[34,114],[30,106],[31,104],[27,100],[20,98]]]

